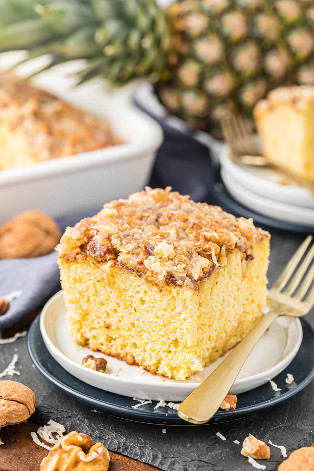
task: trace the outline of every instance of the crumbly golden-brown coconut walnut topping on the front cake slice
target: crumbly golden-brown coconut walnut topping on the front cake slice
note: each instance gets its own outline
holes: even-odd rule
[[[146,187],[68,227],[57,247],[59,260],[112,260],[115,267],[133,270],[159,288],[175,284],[198,289],[203,278],[225,266],[229,251],[239,250],[245,276],[253,244],[269,234],[252,219],[235,218],[170,189]]]

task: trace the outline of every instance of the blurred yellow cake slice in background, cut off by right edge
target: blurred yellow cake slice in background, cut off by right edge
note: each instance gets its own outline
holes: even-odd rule
[[[275,89],[254,117],[269,162],[314,181],[314,87]]]

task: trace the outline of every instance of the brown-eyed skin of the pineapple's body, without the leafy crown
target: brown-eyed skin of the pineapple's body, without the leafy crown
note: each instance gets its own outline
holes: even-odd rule
[[[171,114],[220,137],[228,111],[251,116],[269,90],[314,85],[313,0],[181,0],[155,92]]]

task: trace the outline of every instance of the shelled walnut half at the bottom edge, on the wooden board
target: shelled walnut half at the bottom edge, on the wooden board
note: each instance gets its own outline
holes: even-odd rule
[[[40,471],[107,471],[109,453],[102,443],[84,433],[65,435],[40,463]]]

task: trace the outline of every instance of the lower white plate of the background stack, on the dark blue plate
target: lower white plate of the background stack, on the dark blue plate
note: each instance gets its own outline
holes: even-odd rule
[[[258,211],[260,214],[265,214],[270,218],[304,226],[313,226],[314,209],[281,203],[265,196],[257,195],[234,180],[225,168],[221,170],[221,177],[229,193],[244,206]]]

